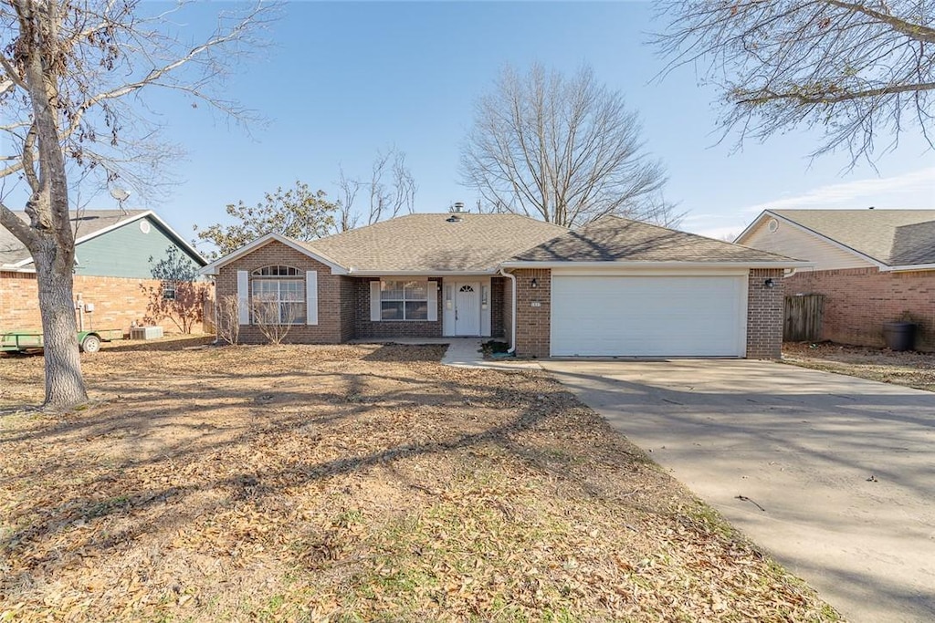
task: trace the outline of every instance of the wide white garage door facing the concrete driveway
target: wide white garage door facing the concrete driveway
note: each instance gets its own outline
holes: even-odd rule
[[[552,279],[554,356],[743,357],[746,276]]]

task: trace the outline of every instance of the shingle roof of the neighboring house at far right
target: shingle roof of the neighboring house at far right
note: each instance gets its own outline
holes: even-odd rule
[[[889,266],[935,263],[935,210],[768,210]]]

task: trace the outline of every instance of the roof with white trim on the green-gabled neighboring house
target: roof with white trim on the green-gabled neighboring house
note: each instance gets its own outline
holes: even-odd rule
[[[29,222],[29,216],[25,212],[16,212],[15,214],[24,223]],[[75,244],[77,246],[99,235],[107,234],[109,231],[122,227],[127,223],[146,218],[157,222],[167,234],[176,240],[180,247],[185,248],[201,265],[207,263],[188,241],[177,234],[165,223],[165,220],[160,219],[152,210],[80,210],[77,215],[71,218],[72,231],[75,233]],[[0,227],[0,267],[15,270],[32,262],[33,257],[29,250],[22,245],[22,242],[6,227]]]

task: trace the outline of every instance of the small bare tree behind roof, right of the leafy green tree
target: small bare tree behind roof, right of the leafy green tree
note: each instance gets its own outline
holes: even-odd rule
[[[338,232],[351,230],[361,222],[372,225],[383,219],[392,219],[400,212],[411,214],[415,210],[415,193],[419,190],[406,165],[406,153],[396,148],[377,152],[367,181],[347,177],[341,168],[338,188],[341,193]],[[363,207],[356,204],[361,190],[367,191],[367,205]]]

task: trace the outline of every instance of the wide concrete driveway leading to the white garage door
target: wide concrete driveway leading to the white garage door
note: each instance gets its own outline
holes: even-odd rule
[[[844,616],[935,621],[935,394],[764,361],[542,365]]]

